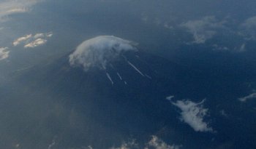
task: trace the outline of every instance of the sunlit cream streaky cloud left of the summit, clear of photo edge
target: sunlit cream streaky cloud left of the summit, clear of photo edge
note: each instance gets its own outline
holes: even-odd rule
[[[13,46],[18,46],[20,44],[25,48],[38,47],[47,42],[47,39],[53,36],[53,33],[36,33],[34,36],[32,34],[22,36],[15,41],[13,41]]]

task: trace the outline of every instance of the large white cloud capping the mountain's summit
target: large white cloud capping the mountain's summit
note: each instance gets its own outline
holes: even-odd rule
[[[75,52],[69,55],[69,63],[72,66],[82,65],[85,71],[94,67],[105,69],[123,52],[136,51],[135,46],[134,42],[115,36],[97,36],[83,41]]]

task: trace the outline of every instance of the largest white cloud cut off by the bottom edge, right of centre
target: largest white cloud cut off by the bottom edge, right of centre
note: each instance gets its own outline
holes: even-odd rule
[[[148,142],[148,145],[145,149],[154,148],[154,149],[179,149],[181,145],[168,145],[163,140],[159,139],[157,136],[152,136],[152,139]]]

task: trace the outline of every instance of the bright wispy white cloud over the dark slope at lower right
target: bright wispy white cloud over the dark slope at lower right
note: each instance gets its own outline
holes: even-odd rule
[[[211,126],[203,120],[208,113],[208,109],[203,108],[204,101],[196,103],[190,100],[178,100],[172,104],[181,109],[181,121],[189,124],[196,132],[213,132]]]

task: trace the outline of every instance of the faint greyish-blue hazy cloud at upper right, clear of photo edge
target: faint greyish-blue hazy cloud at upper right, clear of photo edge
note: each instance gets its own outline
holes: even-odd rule
[[[211,39],[217,34],[217,29],[224,28],[225,21],[219,21],[213,16],[203,17],[201,20],[189,20],[182,23],[181,27],[187,28],[192,33],[194,44],[204,44],[206,40]]]

